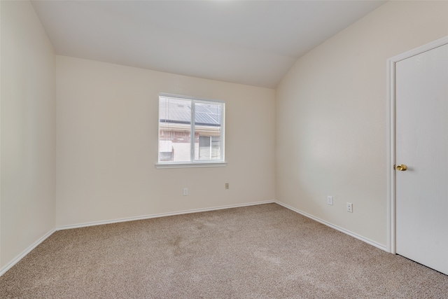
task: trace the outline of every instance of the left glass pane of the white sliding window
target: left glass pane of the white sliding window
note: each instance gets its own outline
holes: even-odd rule
[[[159,161],[191,161],[191,101],[160,97]]]

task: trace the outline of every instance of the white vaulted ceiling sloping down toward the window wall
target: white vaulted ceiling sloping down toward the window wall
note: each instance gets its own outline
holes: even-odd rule
[[[58,55],[275,88],[386,1],[38,1]]]

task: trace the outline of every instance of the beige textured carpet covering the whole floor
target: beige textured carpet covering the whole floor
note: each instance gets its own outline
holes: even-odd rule
[[[278,204],[55,232],[1,298],[448,298],[448,276]]]

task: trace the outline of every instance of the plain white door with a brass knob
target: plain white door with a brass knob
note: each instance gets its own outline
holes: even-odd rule
[[[396,252],[448,274],[448,44],[395,64],[395,164]]]

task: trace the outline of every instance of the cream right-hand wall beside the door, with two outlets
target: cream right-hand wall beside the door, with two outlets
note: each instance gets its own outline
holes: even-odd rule
[[[386,60],[447,35],[447,1],[391,1],[297,60],[276,89],[276,200],[386,246]]]

